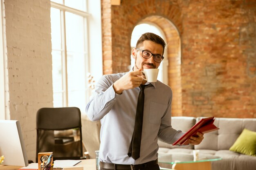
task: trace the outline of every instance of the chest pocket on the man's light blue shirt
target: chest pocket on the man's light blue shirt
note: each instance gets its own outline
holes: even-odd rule
[[[149,122],[152,124],[159,124],[161,122],[161,118],[164,115],[165,110],[166,105],[157,102],[150,102],[148,117]]]

